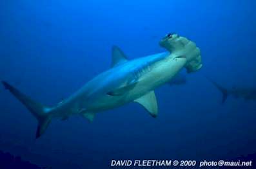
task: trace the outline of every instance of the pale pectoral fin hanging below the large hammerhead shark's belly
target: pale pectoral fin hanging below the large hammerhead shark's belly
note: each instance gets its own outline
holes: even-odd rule
[[[158,109],[157,109],[157,98],[155,98],[155,92],[150,91],[150,93],[142,96],[141,98],[138,98],[134,100],[134,102],[137,102],[141,104],[153,118],[157,117]]]

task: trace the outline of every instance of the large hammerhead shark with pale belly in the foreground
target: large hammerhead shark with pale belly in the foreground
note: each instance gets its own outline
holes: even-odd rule
[[[159,44],[168,52],[135,60],[128,60],[121,49],[113,46],[112,67],[54,107],[35,102],[6,82],[3,85],[37,119],[36,138],[44,133],[52,118],[66,120],[71,115],[79,114],[93,121],[95,113],[129,102],[141,104],[155,118],[158,111],[153,90],[169,82],[182,67],[190,73],[202,66],[201,52],[194,42],[169,33]]]

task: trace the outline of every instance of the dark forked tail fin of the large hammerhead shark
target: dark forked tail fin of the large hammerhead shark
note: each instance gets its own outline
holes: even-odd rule
[[[15,98],[17,98],[25,107],[34,115],[34,117],[38,121],[37,132],[35,134],[36,138],[39,138],[47,129],[48,125],[52,120],[52,113],[50,113],[50,107],[45,107],[41,105],[41,103],[37,103],[25,94],[21,93],[12,85],[2,82],[5,86],[5,89],[8,89],[10,93],[14,94]]]

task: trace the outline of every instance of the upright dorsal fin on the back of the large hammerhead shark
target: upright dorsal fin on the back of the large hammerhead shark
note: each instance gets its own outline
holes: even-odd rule
[[[114,67],[117,64],[124,63],[127,60],[128,59],[126,58],[123,51],[119,47],[117,47],[117,46],[112,47],[112,64],[111,64],[111,67]]]

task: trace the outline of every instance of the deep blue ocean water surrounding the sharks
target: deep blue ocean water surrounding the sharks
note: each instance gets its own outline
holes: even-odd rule
[[[256,1],[0,1],[0,80],[55,105],[109,69],[111,48],[128,58],[165,49],[169,32],[193,40],[203,67],[187,84],[155,90],[159,116],[137,103],[53,120],[35,139],[37,121],[0,88],[0,150],[39,166],[111,168],[112,159],[236,159],[256,152],[256,102],[224,87],[255,87]],[[115,167],[112,167],[115,168]]]

